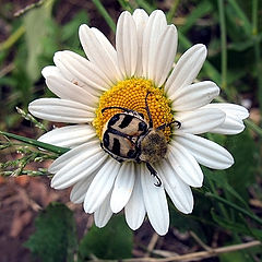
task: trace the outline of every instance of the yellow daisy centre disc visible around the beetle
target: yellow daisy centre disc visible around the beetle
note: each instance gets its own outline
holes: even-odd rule
[[[128,79],[118,82],[110,90],[105,92],[99,99],[96,110],[96,118],[93,126],[96,129],[98,138],[102,140],[103,129],[106,122],[116,114],[122,112],[121,109],[109,109],[102,112],[105,107],[123,107],[144,115],[148,121],[145,110],[145,97],[147,96],[147,105],[152,115],[153,127],[157,128],[164,123],[174,120],[170,103],[164,95],[162,88],[154,86],[153,82],[145,79]],[[170,127],[163,130],[166,140],[169,141],[171,135]]]

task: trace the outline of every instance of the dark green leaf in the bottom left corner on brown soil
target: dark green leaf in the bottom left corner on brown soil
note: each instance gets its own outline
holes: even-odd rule
[[[76,233],[73,213],[63,204],[51,203],[35,221],[36,233],[26,241],[34,255],[45,262],[73,261]]]

